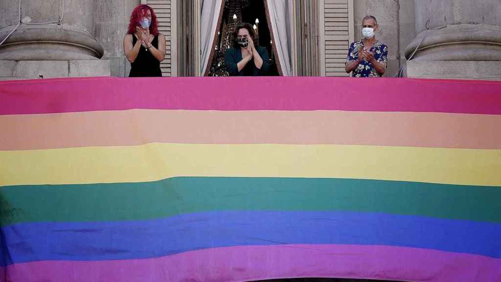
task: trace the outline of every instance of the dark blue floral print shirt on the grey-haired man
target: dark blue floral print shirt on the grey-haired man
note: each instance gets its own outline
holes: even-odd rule
[[[356,61],[358,59],[358,49],[360,47],[362,47],[364,50],[367,50],[362,41],[354,42],[350,45],[346,63]],[[372,52],[374,54],[374,59],[376,59],[376,61],[378,61],[379,63],[384,63],[385,66],[387,65],[388,47],[386,45],[379,43],[379,41],[376,41],[369,52]],[[357,68],[353,70],[353,77],[381,77],[381,75],[377,73],[376,69],[369,61],[363,60],[362,62],[360,62]]]

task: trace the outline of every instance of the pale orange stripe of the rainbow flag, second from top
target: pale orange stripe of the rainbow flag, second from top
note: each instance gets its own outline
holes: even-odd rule
[[[147,143],[501,149],[501,115],[134,109],[0,116],[0,150]]]

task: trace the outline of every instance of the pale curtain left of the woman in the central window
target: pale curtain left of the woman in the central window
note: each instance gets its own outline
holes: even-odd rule
[[[212,44],[214,43],[214,35],[217,30],[217,21],[219,12],[221,11],[222,0],[203,0],[202,14],[200,16],[200,67],[201,74],[205,73],[209,62]]]

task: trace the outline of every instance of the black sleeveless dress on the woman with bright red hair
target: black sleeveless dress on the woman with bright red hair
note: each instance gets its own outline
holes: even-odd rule
[[[132,46],[137,42],[137,39],[132,35]],[[151,45],[158,49],[158,36],[153,38]],[[129,77],[155,77],[162,76],[162,71],[160,70],[160,62],[153,57],[150,51],[146,51],[144,46],[139,48],[139,53],[137,54],[134,63],[130,63],[131,69]]]

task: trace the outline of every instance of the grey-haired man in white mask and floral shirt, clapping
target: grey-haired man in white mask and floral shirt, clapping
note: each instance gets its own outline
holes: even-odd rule
[[[353,77],[381,77],[388,63],[388,47],[376,40],[379,29],[376,18],[367,16],[362,21],[364,39],[350,45],[346,58],[346,72]]]

